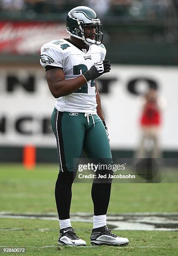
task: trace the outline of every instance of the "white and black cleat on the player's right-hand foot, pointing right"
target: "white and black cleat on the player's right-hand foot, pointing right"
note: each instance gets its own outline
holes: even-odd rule
[[[107,226],[94,228],[91,233],[90,242],[92,245],[100,246],[102,244],[112,246],[126,246],[128,238],[114,235]]]

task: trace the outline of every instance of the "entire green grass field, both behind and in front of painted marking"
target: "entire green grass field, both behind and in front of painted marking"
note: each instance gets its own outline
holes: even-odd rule
[[[1,164],[0,211],[56,212],[57,174],[57,165],[38,165],[27,171],[21,165]],[[73,184],[71,212],[93,212],[90,188],[88,183]],[[114,183],[108,213],[122,212],[178,212],[178,186],[176,183]],[[89,240],[92,223],[73,222],[73,227],[87,241],[86,247],[58,246],[58,220],[0,218],[0,246],[23,246],[27,250],[25,255],[178,255],[175,231],[115,231],[129,238],[128,246],[93,247]]]

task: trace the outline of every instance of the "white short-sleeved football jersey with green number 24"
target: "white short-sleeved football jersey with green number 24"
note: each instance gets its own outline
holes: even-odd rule
[[[65,79],[73,79],[86,72],[97,62],[105,59],[106,49],[103,44],[92,45],[86,52],[80,50],[65,39],[50,41],[41,47],[40,64],[60,67]],[[95,115],[96,112],[95,80],[86,82],[70,95],[56,99],[55,108],[59,111],[80,112]]]

